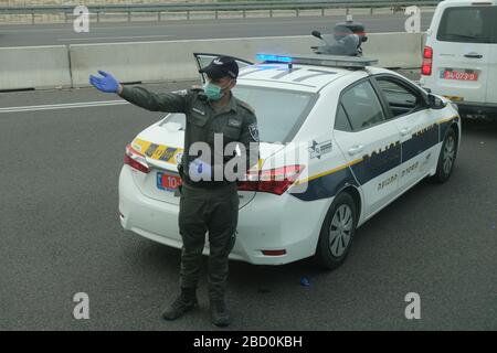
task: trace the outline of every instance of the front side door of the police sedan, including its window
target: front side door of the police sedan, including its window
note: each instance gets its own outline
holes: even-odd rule
[[[389,119],[399,130],[402,153],[399,192],[403,192],[424,178],[436,162],[433,148],[438,143],[438,128],[419,88],[393,75],[377,75],[373,79],[388,107]]]

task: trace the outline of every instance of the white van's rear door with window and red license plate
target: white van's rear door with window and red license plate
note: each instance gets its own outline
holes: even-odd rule
[[[432,44],[434,93],[453,100],[485,101],[495,22],[489,10],[485,4],[447,3]]]

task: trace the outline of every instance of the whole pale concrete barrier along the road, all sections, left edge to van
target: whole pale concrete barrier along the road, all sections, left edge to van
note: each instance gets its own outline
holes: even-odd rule
[[[197,79],[193,52],[255,61],[256,53],[305,54],[314,45],[320,41],[299,35],[0,47],[0,90],[85,87],[98,69],[125,83]],[[373,33],[363,44],[364,56],[383,67],[420,67],[422,47],[422,33]]]

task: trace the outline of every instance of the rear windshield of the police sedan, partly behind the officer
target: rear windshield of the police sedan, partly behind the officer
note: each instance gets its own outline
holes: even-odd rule
[[[313,108],[316,95],[306,92],[239,85],[233,95],[255,109],[262,142],[289,142]],[[183,114],[172,114],[163,122],[184,126]]]

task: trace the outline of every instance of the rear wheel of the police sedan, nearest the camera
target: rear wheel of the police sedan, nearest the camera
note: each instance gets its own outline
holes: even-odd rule
[[[352,196],[347,192],[340,193],[329,207],[319,234],[315,254],[319,267],[332,270],[345,261],[357,222],[358,212]]]

